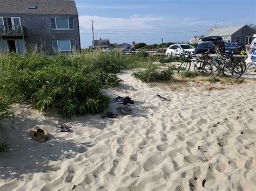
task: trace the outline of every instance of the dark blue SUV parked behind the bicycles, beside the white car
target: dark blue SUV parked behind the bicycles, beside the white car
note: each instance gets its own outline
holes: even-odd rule
[[[195,54],[203,54],[210,49],[210,53],[214,54],[214,53],[216,53],[216,44],[217,43],[218,43],[218,41],[209,41],[209,42],[201,43],[194,49],[194,53]],[[226,52],[235,51],[235,48],[237,48],[237,47],[234,47],[231,44],[226,43],[226,42],[224,42],[224,44],[225,44]]]

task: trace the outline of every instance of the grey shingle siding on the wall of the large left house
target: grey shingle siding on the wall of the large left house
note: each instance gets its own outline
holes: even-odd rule
[[[41,47],[47,54],[55,54],[52,40],[75,39],[76,49],[80,52],[79,21],[77,15],[35,15],[18,13],[0,13],[1,16],[20,17],[21,25],[26,27],[25,46],[29,50],[35,45]],[[74,19],[75,30],[51,30],[50,17],[68,17]]]

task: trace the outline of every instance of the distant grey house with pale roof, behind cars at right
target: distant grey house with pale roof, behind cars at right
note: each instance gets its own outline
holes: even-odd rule
[[[249,45],[253,40],[254,30],[248,25],[212,27],[206,36],[221,36],[224,41]]]

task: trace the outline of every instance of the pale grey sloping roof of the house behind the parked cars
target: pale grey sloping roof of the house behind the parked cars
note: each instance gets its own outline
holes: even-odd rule
[[[212,27],[210,29],[206,36],[231,36],[238,30],[240,30],[242,27],[246,25],[241,25],[241,26],[228,26],[228,27]]]

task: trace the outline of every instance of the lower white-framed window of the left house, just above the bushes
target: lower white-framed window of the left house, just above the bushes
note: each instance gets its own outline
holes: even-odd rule
[[[53,52],[71,52],[76,49],[76,40],[52,40]]]

